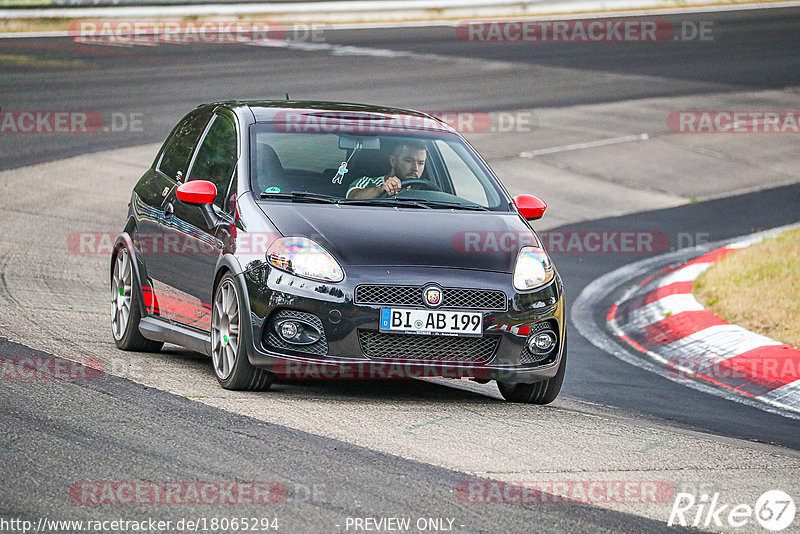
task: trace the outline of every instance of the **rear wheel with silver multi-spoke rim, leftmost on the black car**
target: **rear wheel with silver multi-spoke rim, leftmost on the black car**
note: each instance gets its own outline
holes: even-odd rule
[[[111,334],[117,348],[136,352],[158,352],[164,343],[147,339],[139,331],[141,287],[133,274],[133,257],[122,245],[114,254],[111,270]],[[136,287],[134,287],[136,285]]]

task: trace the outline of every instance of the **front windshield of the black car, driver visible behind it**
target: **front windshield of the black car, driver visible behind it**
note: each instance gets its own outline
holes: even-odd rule
[[[506,193],[457,135],[251,130],[251,185],[265,199],[508,211]],[[396,178],[392,180],[391,178]],[[385,182],[386,187],[381,189]],[[396,190],[389,186],[395,185]]]

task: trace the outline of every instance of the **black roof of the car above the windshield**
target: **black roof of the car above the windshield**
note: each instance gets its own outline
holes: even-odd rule
[[[433,115],[412,109],[326,102],[319,100],[231,100],[216,102],[231,109],[249,109],[256,122],[325,121],[346,123],[380,122],[380,128],[404,130],[434,130],[454,133],[446,122]]]

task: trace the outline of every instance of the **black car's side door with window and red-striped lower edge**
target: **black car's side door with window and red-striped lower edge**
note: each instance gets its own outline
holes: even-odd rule
[[[234,119],[215,114],[192,157],[186,181],[207,180],[217,187],[213,209],[233,222],[231,202],[238,159]],[[169,304],[170,319],[184,326],[209,330],[217,260],[228,241],[230,224],[209,227],[202,209],[178,200],[173,189],[164,206],[162,269],[154,275]],[[163,307],[163,306],[162,306]]]

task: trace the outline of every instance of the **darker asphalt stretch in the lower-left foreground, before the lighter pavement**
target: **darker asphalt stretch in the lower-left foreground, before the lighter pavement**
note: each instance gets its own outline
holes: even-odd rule
[[[35,355],[18,345],[0,347],[5,354]],[[85,505],[63,502],[64,488],[86,481],[83,474],[91,481],[161,481],[169,473],[170,480],[278,482],[284,502],[240,505],[236,515],[276,517],[288,532],[343,531],[345,516],[454,518],[455,530],[467,532],[515,532],[531,523],[541,532],[672,531],[581,504],[471,506],[453,492],[462,474],[220,412],[113,376],[55,386],[22,382],[4,388],[0,400],[4,449],[13,459],[2,468],[5,517],[97,517],[91,510],[87,517]],[[221,515],[213,505],[190,510],[191,517]],[[169,503],[124,514],[187,517]]]

